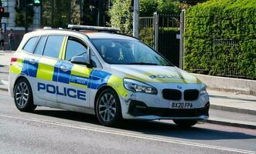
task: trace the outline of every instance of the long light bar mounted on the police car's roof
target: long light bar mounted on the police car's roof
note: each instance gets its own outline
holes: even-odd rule
[[[119,32],[119,28],[112,27],[100,27],[91,25],[67,25],[67,28],[74,30],[94,30],[94,31],[105,31],[105,32]]]

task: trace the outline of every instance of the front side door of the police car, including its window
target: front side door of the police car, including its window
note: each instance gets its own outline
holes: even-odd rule
[[[59,89],[65,89],[64,93],[57,95],[57,101],[69,105],[89,107],[90,93],[87,89],[89,75],[92,69],[86,65],[73,64],[70,60],[73,56],[83,55],[86,59],[88,46],[81,39],[69,37],[67,46],[60,62],[56,65],[59,69]]]

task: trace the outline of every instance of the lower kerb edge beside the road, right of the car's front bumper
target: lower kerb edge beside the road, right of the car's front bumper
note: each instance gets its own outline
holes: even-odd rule
[[[205,122],[217,124],[221,126],[233,126],[233,127],[239,127],[244,129],[256,129],[256,126],[253,124],[247,124],[247,123],[238,123],[238,122],[227,122],[227,121],[221,121],[217,119],[207,119]]]

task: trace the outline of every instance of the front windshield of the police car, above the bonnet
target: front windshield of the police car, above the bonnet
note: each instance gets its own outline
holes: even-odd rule
[[[137,40],[90,39],[108,64],[171,65],[153,49]]]

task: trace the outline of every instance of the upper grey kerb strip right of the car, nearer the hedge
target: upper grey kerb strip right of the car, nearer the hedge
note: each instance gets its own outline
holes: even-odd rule
[[[228,112],[244,113],[244,114],[248,114],[248,115],[256,115],[256,110],[239,109],[239,108],[227,107],[227,106],[223,106],[223,105],[211,104],[210,109],[217,109],[217,110],[228,111]]]

